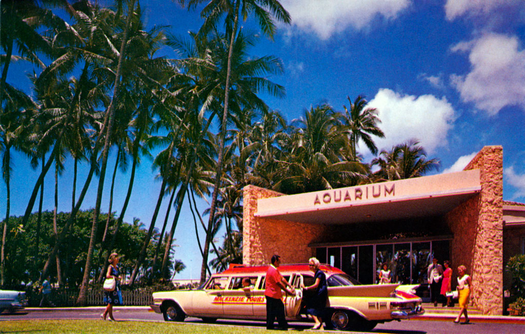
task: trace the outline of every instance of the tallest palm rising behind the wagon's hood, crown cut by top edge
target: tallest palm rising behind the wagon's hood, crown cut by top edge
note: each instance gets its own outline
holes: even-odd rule
[[[187,2],[188,8],[195,8],[198,4],[204,2],[204,0],[179,0],[179,2],[183,5]],[[209,31],[212,31],[213,29],[215,29],[215,27],[217,27],[217,23],[220,20],[220,18],[222,16],[226,16],[226,34],[229,37],[226,78],[224,83],[224,109],[222,115],[222,127],[219,136],[217,168],[215,172],[216,179],[209,213],[208,230],[211,230],[214,221],[215,206],[220,187],[220,175],[221,170],[223,168],[223,151],[225,146],[224,141],[226,137],[226,125],[229,114],[229,94],[231,84],[230,80],[233,68],[233,51],[235,40],[237,39],[239,16],[243,17],[243,19],[246,20],[248,15],[251,13],[253,13],[256,16],[263,33],[269,36],[270,38],[274,36],[276,31],[272,15],[278,20],[283,21],[287,24],[291,22],[290,15],[277,0],[211,0],[201,12],[201,16],[205,17],[205,21],[203,26],[201,27],[200,33],[207,35]],[[201,283],[203,283],[206,278],[207,252],[209,249],[210,241],[211,236],[207,235],[204,244],[205,252],[201,268]]]

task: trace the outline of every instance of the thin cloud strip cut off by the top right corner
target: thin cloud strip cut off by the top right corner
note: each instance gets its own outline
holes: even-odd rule
[[[445,13],[448,20],[463,15],[489,15],[499,7],[522,6],[523,2],[523,0],[447,0]]]

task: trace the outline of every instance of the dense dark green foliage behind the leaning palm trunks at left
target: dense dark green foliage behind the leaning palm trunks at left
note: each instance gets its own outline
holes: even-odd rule
[[[67,220],[69,213],[60,212],[57,214],[57,226],[60,231]],[[82,282],[83,269],[86,263],[87,249],[89,245],[89,236],[91,232],[92,210],[79,211],[76,222],[72,225],[67,234],[65,242],[59,248],[60,267],[62,279],[67,287],[75,288]],[[7,227],[6,238],[6,276],[5,285],[16,287],[22,283],[35,282],[40,275],[40,271],[47,261],[48,254],[55,245],[55,236],[53,233],[53,212],[42,212],[42,221],[40,225],[40,241],[38,253],[36,250],[37,239],[37,213],[31,214],[28,223],[24,229],[20,229],[19,222],[22,217],[10,217]],[[99,226],[106,224],[107,214],[101,214],[99,217]],[[111,235],[116,219],[110,217],[109,234]],[[2,222],[3,226],[4,222]],[[93,279],[98,277],[102,268],[102,235],[104,229],[99,228],[96,238],[95,263],[93,264]],[[123,274],[130,274],[133,265],[137,262],[140,247],[143,242],[146,230],[139,220],[132,224],[123,222],[119,228],[117,239],[114,244],[115,251],[121,254],[120,267]],[[151,266],[155,247],[159,242],[159,234],[155,233],[146,254],[143,264],[144,271]],[[163,242],[164,244],[164,242]],[[56,261],[51,262],[50,277],[57,279]],[[171,266],[171,260],[169,265]],[[172,286],[173,288],[173,286]]]

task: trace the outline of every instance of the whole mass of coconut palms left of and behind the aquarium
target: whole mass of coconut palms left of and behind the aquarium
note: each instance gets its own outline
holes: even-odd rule
[[[77,280],[77,301],[85,304],[90,281],[97,274],[98,281],[103,279],[105,268],[99,271],[97,259],[107,264],[127,228],[123,217],[137,166],[146,157],[153,160],[161,189],[152,219],[133,246],[137,255],[129,273],[131,284],[148,270],[170,277],[175,229],[186,196],[203,258],[204,281],[212,269],[242,260],[241,195],[245,185],[299,193],[417,177],[438,166],[437,159],[428,159],[417,141],[377,152],[374,136],[384,137],[381,121],[377,111],[367,107],[364,96],[348,97],[348,107],[342,111],[329,104],[311,106],[289,122],[265,103],[262,94],[285,96],[285,88],[268,79],[281,74],[283,64],[276,56],[250,55],[256,34],[239,25],[239,20],[253,19],[262,34],[272,38],[276,20],[285,24],[291,20],[278,1],[178,2],[188,10],[202,8],[203,24],[197,32],[181,37],[171,34],[170,27],[146,28],[139,0],[117,0],[112,7],[88,0],[2,1],[5,55],[1,58],[0,148],[7,190],[2,284],[11,256],[6,253],[7,239],[16,233],[34,229],[35,254],[47,256],[38,264],[40,281],[56,267],[54,263],[64,261],[61,247],[79,226],[79,216],[85,214],[79,209],[95,175],[97,196],[89,211],[82,279]],[[68,18],[57,13],[67,13]],[[163,48],[171,48],[178,57],[167,58]],[[30,62],[38,69],[30,76],[29,95],[6,80],[15,60]],[[360,144],[379,155],[366,163],[358,151]],[[109,166],[111,187],[104,189],[110,148],[116,150],[117,159]],[[32,167],[40,167],[24,216],[11,218],[17,219],[16,225],[9,222],[12,150],[27,155]],[[152,152],[159,153],[152,156]],[[67,159],[74,161],[71,211],[58,219],[57,184]],[[77,180],[79,165],[88,170],[85,180]],[[127,170],[130,178],[122,208],[113,208],[118,168]],[[41,203],[44,177],[50,170],[55,173],[54,244],[44,249],[40,234],[51,226],[44,218],[51,218],[42,213]],[[102,208],[104,192],[109,194],[107,211]],[[197,210],[199,197],[211,198],[204,212]],[[29,224],[37,199],[36,222]],[[166,199],[168,211],[155,243],[155,223]],[[174,218],[169,221],[172,207]],[[205,231],[204,244],[199,226]],[[222,226],[226,235],[220,246],[214,239]],[[208,261],[209,253],[216,258]],[[151,262],[146,261],[150,258]]]

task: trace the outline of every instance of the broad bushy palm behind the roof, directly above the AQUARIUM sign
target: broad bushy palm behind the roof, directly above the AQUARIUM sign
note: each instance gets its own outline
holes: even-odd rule
[[[300,193],[356,185],[366,178],[360,161],[347,160],[344,132],[330,105],[311,107],[304,117],[293,120],[288,142],[278,160],[273,189]]]

